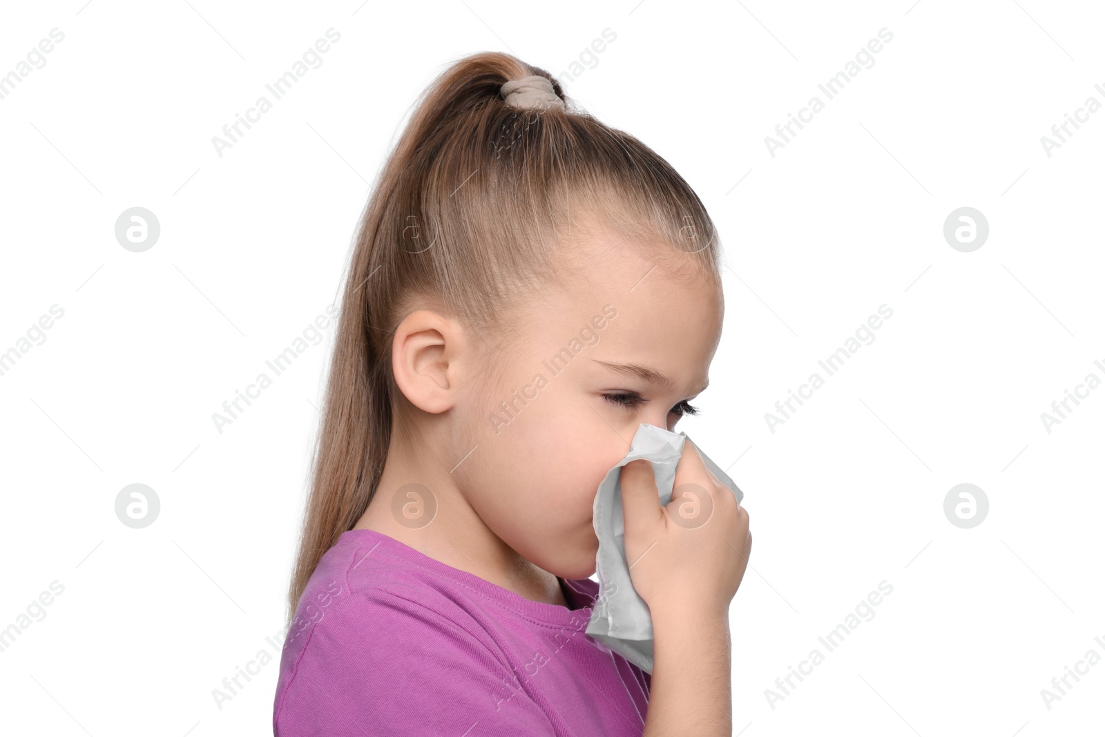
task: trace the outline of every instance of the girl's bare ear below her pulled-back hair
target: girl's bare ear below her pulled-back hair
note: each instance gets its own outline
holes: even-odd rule
[[[411,404],[438,414],[451,409],[469,346],[463,327],[431,309],[417,309],[403,318],[391,341],[391,370]]]

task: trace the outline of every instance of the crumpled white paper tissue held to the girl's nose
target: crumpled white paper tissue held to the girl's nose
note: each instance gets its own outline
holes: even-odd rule
[[[594,495],[594,534],[599,538],[596,572],[599,594],[596,599],[587,634],[622,655],[641,670],[652,673],[653,632],[649,606],[633,589],[625,559],[625,517],[621,502],[621,468],[630,461],[652,462],[661,506],[672,501],[675,467],[687,440],[685,432],[670,432],[654,424],[642,423],[633,435],[629,453],[611,468]],[[716,463],[706,457],[698,445],[703,464],[719,482],[733,489],[740,502],[745,494]]]

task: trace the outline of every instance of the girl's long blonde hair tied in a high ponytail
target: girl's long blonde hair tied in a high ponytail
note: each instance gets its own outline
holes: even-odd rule
[[[530,75],[548,78],[566,105],[508,106],[503,85]],[[579,222],[588,228],[577,230]],[[580,233],[594,228],[712,277],[719,292],[720,246],[695,192],[636,138],[570,105],[548,72],[478,53],[430,84],[359,223],[288,621],[319,559],[376,493],[398,396],[391,339],[402,318],[440,305],[485,338],[499,336],[512,305],[558,278],[565,244],[586,244]]]

